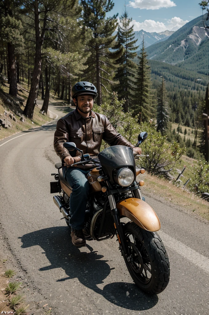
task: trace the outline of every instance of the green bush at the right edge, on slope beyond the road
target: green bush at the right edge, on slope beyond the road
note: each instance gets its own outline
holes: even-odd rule
[[[209,163],[199,161],[198,166],[195,167],[190,187],[198,195],[201,195],[203,192],[209,193]]]

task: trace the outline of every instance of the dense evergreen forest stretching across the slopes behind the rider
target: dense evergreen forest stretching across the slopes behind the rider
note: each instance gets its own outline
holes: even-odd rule
[[[118,15],[107,17],[113,6],[112,0],[2,0],[0,88],[6,81],[15,97],[18,84],[26,83],[23,114],[33,119],[37,96],[46,113],[50,95],[71,104],[71,87],[90,81],[98,90],[98,111],[114,97],[129,123],[151,123],[168,142],[186,146],[190,157],[204,159],[201,117],[208,77],[148,60],[144,41],[137,55],[132,18],[126,8],[119,23]],[[179,135],[183,125],[194,129],[194,143]]]

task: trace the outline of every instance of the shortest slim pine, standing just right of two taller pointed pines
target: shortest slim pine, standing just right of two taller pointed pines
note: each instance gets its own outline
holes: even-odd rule
[[[169,123],[169,108],[163,77],[161,87],[158,91],[157,101],[157,131],[160,131],[161,134],[164,135]]]

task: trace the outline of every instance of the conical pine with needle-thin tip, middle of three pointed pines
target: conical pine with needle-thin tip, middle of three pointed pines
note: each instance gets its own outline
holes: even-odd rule
[[[142,49],[138,56],[139,64],[136,77],[136,91],[134,95],[133,116],[138,116],[139,123],[149,121],[153,118],[155,108],[152,105],[150,93],[150,66],[148,65],[147,53],[144,49],[144,38]]]

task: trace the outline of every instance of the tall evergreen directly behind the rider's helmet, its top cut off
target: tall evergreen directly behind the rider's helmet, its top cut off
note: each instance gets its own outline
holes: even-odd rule
[[[115,43],[116,36],[113,32],[117,27],[117,15],[106,18],[106,13],[112,10],[112,0],[81,0],[83,6],[83,24],[88,27],[92,34],[87,43],[88,51],[91,53],[87,60],[88,66],[85,79],[94,83],[97,87],[98,105],[102,104],[102,95],[109,92],[114,83],[114,60],[120,57],[121,49]]]

